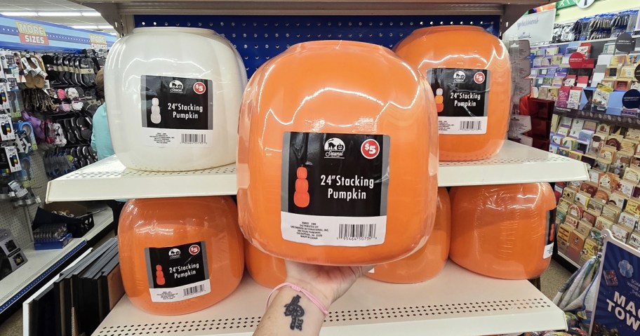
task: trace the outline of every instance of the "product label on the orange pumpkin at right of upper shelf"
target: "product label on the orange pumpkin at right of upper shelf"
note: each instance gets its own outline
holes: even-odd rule
[[[429,69],[440,134],[485,134],[489,72],[484,69]]]

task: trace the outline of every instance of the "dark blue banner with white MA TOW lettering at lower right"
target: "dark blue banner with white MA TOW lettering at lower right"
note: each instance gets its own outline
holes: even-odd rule
[[[621,246],[607,239],[592,336],[640,335],[640,251]]]

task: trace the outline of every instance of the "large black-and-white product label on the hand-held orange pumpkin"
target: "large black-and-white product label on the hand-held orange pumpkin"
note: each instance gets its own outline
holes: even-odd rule
[[[313,246],[385,242],[388,135],[284,134],[281,232]]]

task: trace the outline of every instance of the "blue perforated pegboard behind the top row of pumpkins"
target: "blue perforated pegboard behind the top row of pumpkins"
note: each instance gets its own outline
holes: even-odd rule
[[[475,25],[498,36],[500,16],[135,15],[135,27],[195,27],[215,30],[238,49],[248,76],[269,58],[296,43],[342,39],[392,48],[415,29],[439,25]]]

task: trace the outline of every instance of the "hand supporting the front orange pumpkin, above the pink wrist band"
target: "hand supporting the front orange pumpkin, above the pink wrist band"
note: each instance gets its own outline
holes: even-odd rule
[[[347,293],[347,290],[373,266],[324,266],[285,260],[286,282],[311,292],[324,307]]]

